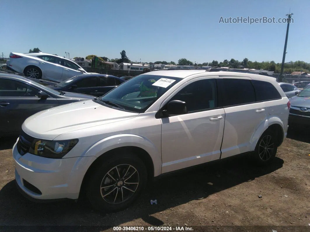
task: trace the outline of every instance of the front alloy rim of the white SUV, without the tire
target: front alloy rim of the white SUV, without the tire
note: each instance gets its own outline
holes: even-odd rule
[[[109,204],[119,204],[128,200],[135,194],[139,186],[139,173],[130,164],[120,164],[105,174],[100,194]]]

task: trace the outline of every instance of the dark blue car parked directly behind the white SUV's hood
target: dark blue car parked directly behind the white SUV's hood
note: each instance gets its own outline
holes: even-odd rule
[[[62,81],[59,84],[48,85],[47,87],[59,91],[88,94],[100,97],[124,81],[125,80],[112,75],[81,74]]]

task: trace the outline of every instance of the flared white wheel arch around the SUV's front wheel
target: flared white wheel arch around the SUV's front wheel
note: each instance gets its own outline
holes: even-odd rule
[[[146,151],[154,165],[154,177],[158,176],[162,172],[162,155],[161,152],[157,149],[153,142],[147,138],[135,134],[118,134],[104,138],[96,142],[91,146],[85,153],[85,156],[95,156],[99,157],[100,155],[108,152],[112,149],[119,147],[139,147]]]

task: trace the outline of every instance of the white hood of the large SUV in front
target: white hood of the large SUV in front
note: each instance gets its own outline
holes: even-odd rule
[[[38,112],[24,121],[22,129],[34,138],[53,140],[73,130],[118,122],[137,115],[88,100]]]

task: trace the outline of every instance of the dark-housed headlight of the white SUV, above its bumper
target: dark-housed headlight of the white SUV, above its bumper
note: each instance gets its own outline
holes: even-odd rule
[[[64,140],[64,141],[35,139],[31,144],[29,153],[46,158],[61,159],[77,143],[78,139]]]

